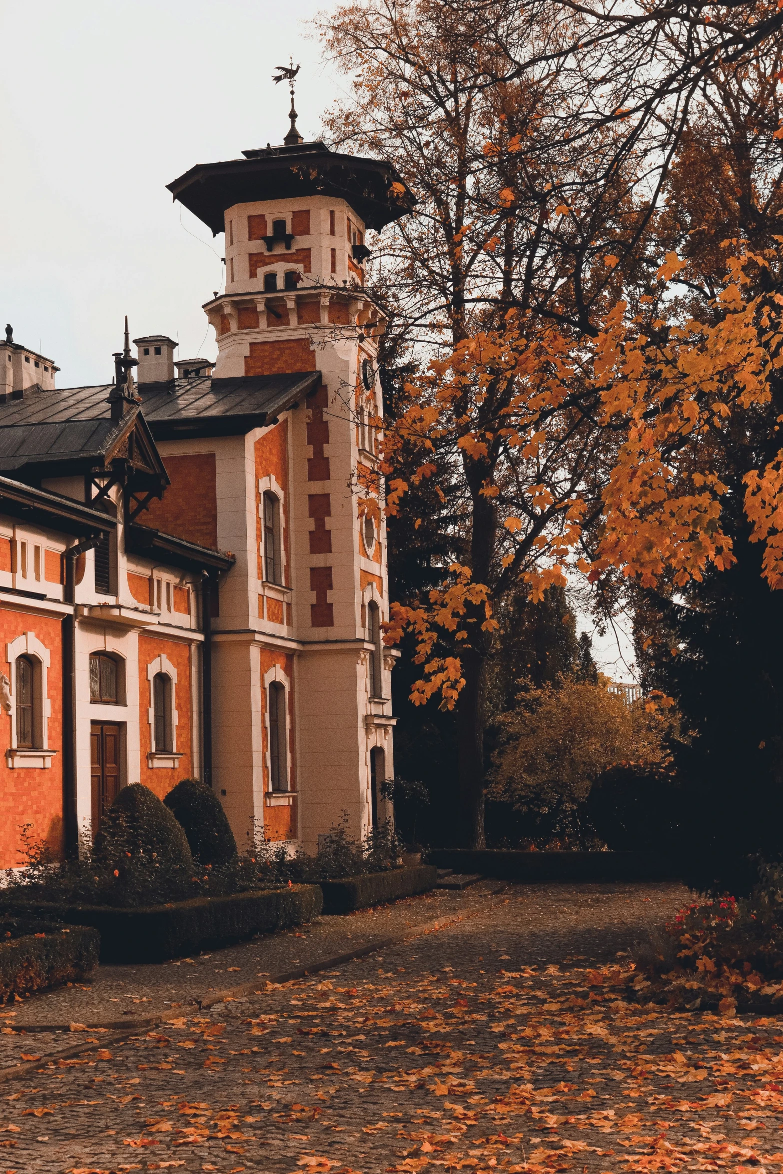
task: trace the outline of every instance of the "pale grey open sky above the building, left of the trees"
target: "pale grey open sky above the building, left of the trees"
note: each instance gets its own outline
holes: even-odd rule
[[[195,163],[282,142],[302,63],[299,129],[337,94],[309,20],[328,0],[0,0],[0,328],[61,371],[108,383],[131,337],[216,353],[202,304],[222,288],[223,236],[166,184]],[[194,235],[190,235],[194,234]]]

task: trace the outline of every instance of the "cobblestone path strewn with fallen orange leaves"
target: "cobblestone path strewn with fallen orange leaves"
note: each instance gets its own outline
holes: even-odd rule
[[[682,898],[519,888],[311,980],[92,1037],[0,1087],[0,1174],[779,1172],[783,1024],[603,984]]]

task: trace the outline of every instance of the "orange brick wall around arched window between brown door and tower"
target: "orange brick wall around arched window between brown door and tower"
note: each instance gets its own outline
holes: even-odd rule
[[[180,765],[176,768],[148,767],[147,755],[153,747],[153,730],[149,724],[149,681],[147,680],[147,666],[156,656],[163,654],[168,656],[177,670],[177,683],[174,691],[175,708],[178,715],[176,728],[177,754],[181,754]],[[163,798],[181,778],[190,778],[193,775],[193,760],[190,754],[191,743],[190,711],[190,646],[180,643],[176,640],[161,640],[160,636],[139,636],[139,728],[141,734],[141,780],[144,787],[155,791],[158,798]]]

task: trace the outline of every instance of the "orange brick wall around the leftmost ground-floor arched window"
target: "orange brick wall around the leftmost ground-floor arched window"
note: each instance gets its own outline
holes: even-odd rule
[[[58,855],[63,849],[62,828],[62,643],[59,619],[40,615],[23,615],[20,612],[0,609],[0,670],[11,680],[11,666],[6,660],[6,645],[22,632],[33,632],[49,649],[47,669],[47,696],[52,702],[48,717],[48,743],[58,753],[47,770],[11,770],[6,750],[11,745],[11,717],[0,710],[0,868],[25,863],[19,855],[21,848],[20,828],[29,823],[31,838],[43,839]],[[13,682],[12,682],[13,684]]]

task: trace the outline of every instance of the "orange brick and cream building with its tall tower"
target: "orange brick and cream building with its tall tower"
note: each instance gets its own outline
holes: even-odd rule
[[[313,850],[344,814],[356,835],[391,814],[384,321],[363,266],[366,229],[412,197],[293,121],[243,155],[169,185],[225,232],[215,365],[166,335],[134,359],[126,332],[113,384],[61,390],[0,344],[1,865],[19,824],[73,845],[126,782],[203,778],[241,844]]]

